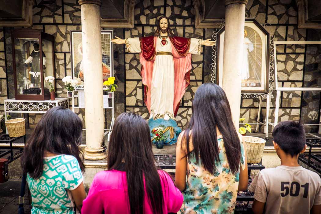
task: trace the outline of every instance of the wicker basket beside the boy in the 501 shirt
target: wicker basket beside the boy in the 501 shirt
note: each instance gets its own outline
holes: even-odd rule
[[[260,163],[265,147],[265,140],[259,137],[245,136],[247,163]]]

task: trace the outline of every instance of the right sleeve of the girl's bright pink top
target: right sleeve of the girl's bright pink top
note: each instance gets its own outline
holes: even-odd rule
[[[167,204],[167,212],[178,212],[183,204],[183,194],[174,185],[174,182],[169,174],[160,172],[161,182],[163,183],[163,194],[165,194],[165,204]]]

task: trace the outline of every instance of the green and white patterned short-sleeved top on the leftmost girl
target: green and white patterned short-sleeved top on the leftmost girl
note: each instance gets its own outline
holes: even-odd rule
[[[39,179],[27,175],[32,197],[31,214],[74,214],[74,201],[70,190],[83,181],[79,163],[74,156],[45,157]]]

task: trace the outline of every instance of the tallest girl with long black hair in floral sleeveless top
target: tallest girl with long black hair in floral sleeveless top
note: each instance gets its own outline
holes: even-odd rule
[[[248,175],[242,136],[225,92],[213,83],[201,85],[192,111],[176,146],[175,183],[184,195],[180,213],[234,213]]]

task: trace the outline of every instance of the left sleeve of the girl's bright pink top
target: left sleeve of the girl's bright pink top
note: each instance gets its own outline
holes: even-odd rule
[[[91,183],[88,196],[82,202],[82,214],[103,213],[104,207],[100,200],[100,193],[97,188],[99,184],[96,184],[96,179],[97,177],[95,176]]]

